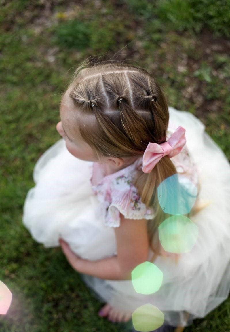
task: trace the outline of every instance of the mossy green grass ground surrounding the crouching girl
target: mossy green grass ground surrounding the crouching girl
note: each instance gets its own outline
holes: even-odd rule
[[[13,301],[0,317],[0,332],[125,331],[124,325],[97,315],[101,303],[60,248],[44,248],[23,226],[33,168],[60,138],[55,128],[60,97],[86,58],[128,59],[148,69],[169,106],[196,115],[230,160],[230,9],[228,1],[221,3],[102,1],[95,8],[94,2],[84,2],[71,14],[68,1],[56,0],[45,14],[44,1],[2,1],[0,280]],[[205,36],[208,42],[203,42]],[[214,44],[222,49],[211,50]],[[126,53],[119,53],[123,47]],[[208,56],[206,49],[211,50]],[[185,332],[229,330],[227,299]]]

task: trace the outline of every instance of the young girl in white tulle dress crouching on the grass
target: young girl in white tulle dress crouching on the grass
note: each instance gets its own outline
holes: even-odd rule
[[[149,303],[164,314],[159,331],[182,330],[229,294],[229,162],[196,117],[168,108],[145,69],[110,62],[83,67],[60,103],[56,128],[63,138],[35,165],[23,223],[46,248],[61,244],[106,302],[100,315],[128,321]],[[157,189],[175,174],[198,192],[187,214],[198,238],[181,254],[165,251],[158,234],[171,214],[161,208]],[[163,281],[143,295],[131,272],[146,261],[162,271]]]

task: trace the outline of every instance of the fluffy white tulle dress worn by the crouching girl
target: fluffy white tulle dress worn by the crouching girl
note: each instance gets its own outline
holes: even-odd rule
[[[131,280],[81,276],[98,299],[112,306],[133,312],[150,303],[164,313],[164,323],[187,326],[193,319],[206,316],[229,295],[230,165],[200,120],[189,112],[172,107],[169,107],[169,115],[174,128],[181,125],[186,129],[186,145],[171,160],[178,173],[187,169],[188,178],[195,185],[199,181],[199,199],[211,202],[191,217],[199,228],[194,247],[181,255],[177,265],[170,258],[156,258],[154,264],[163,272],[163,282],[153,294],[137,293]],[[71,155],[64,139],[58,140],[38,159],[33,171],[36,185],[27,194],[23,224],[44,247],[58,247],[58,239],[62,237],[84,259],[110,257],[116,254],[113,227],[119,226],[119,211],[134,219],[153,217],[154,211],[146,209],[140,201],[135,201],[134,205],[132,200],[131,208],[131,203],[126,201],[124,210],[116,195],[112,203],[106,199],[109,182],[103,180],[101,186],[91,184],[94,164]],[[119,179],[126,179],[134,165],[124,169],[124,173],[121,170],[106,177],[107,180],[114,180],[116,175],[122,174],[124,176]],[[124,195],[127,183],[123,182],[126,185]],[[139,209],[135,210],[136,206]],[[149,250],[149,260],[152,255]],[[189,313],[187,321],[186,312]]]

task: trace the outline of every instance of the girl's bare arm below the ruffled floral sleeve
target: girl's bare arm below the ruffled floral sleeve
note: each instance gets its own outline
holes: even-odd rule
[[[117,255],[89,261],[79,258],[61,243],[62,250],[72,267],[84,274],[107,280],[129,280],[132,270],[148,258],[147,220],[125,219],[120,214],[120,226],[114,228]]]

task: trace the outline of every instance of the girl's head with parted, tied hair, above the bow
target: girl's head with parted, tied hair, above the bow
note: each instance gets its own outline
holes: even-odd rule
[[[164,142],[169,121],[166,99],[148,72],[112,63],[77,68],[60,117],[57,130],[70,153],[116,165],[133,162],[149,142]]]

